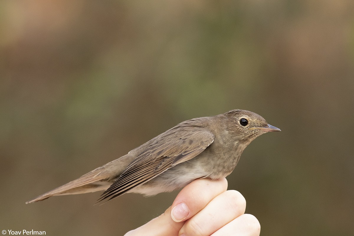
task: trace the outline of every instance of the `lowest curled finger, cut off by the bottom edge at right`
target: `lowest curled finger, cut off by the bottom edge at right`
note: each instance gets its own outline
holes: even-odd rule
[[[256,217],[250,214],[243,214],[223,226],[211,236],[259,236],[261,225]]]

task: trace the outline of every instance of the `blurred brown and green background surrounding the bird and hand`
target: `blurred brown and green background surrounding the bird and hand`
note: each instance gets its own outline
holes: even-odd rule
[[[181,121],[246,109],[282,130],[227,178],[261,235],[353,235],[353,104],[351,0],[4,0],[0,229],[123,235],[178,191],[25,201]]]

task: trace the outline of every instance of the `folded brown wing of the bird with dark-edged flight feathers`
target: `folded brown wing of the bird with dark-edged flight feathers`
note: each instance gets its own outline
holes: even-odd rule
[[[180,127],[183,129],[183,127]],[[98,201],[108,201],[155,178],[172,166],[200,154],[214,141],[214,135],[202,127],[181,131],[170,129],[146,143],[142,152],[101,195]],[[190,129],[189,129],[190,130]],[[183,133],[181,136],[180,134]]]

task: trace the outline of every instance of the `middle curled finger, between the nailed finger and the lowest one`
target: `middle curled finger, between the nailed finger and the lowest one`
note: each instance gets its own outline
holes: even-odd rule
[[[236,190],[228,190],[186,221],[179,235],[209,236],[244,214],[245,210],[245,198]]]

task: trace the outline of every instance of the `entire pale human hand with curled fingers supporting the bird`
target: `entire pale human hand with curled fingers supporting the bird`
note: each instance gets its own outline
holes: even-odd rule
[[[259,236],[256,217],[244,214],[245,198],[227,191],[227,180],[196,179],[163,214],[125,236]]]

